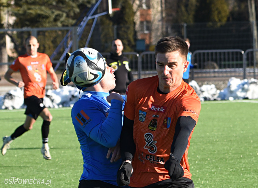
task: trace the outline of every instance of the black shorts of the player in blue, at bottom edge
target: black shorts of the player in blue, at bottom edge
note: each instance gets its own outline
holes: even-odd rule
[[[100,180],[81,180],[78,188],[118,188],[118,186]]]

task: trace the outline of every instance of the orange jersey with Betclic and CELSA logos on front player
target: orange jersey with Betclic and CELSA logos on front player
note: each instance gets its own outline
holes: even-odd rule
[[[201,103],[198,95],[183,82],[168,94],[157,92],[158,76],[138,79],[127,88],[124,115],[134,121],[133,138],[136,150],[133,156],[132,187],[143,187],[170,178],[164,163],[169,159],[175,126],[180,116],[191,116],[197,123]],[[191,179],[188,163],[188,145],[180,164],[184,176]]]

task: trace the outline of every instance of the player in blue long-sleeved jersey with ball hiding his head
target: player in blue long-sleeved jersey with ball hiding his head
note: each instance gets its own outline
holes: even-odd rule
[[[102,80],[82,88],[82,97],[72,107],[72,123],[83,156],[79,188],[118,187],[124,99],[118,93],[109,93],[116,86],[115,80],[114,69],[106,65]]]

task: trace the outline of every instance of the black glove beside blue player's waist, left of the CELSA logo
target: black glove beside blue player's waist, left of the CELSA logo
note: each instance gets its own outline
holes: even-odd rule
[[[129,185],[130,177],[133,174],[133,167],[131,163],[123,162],[117,172],[116,182],[118,186]]]

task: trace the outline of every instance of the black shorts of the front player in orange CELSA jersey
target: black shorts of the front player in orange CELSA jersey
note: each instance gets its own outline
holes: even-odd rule
[[[135,188],[135,187],[131,187]],[[171,179],[163,180],[157,183],[147,185],[142,188],[194,188],[193,181],[186,177],[178,178],[175,181]]]

